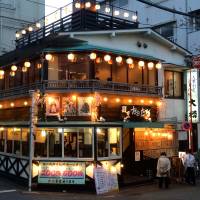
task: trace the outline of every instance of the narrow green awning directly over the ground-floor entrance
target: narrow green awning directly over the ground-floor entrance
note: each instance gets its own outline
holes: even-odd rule
[[[163,122],[124,122],[124,128],[164,128]]]

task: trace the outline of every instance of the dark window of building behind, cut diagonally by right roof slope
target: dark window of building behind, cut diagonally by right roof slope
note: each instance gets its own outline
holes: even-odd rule
[[[159,25],[159,26],[155,26],[153,29],[156,32],[160,33],[162,36],[166,37],[167,39],[175,42],[174,26],[175,26],[175,22],[170,22],[170,23]]]

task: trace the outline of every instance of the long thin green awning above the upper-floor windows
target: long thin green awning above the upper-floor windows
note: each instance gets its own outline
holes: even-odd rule
[[[116,55],[121,55],[121,56],[131,56],[131,57],[136,57],[136,58],[141,58],[145,60],[151,60],[151,61],[163,61],[159,58],[149,56],[146,54],[140,54],[136,52],[130,52],[130,51],[123,51],[123,50],[118,50],[118,49],[112,49],[112,48],[107,48],[107,47],[101,47],[101,46],[95,46],[95,45],[89,45],[89,44],[82,44],[80,46],[74,46],[74,47],[63,47],[63,48],[45,48],[44,52],[84,52],[84,51],[99,51],[102,53],[112,53]]]

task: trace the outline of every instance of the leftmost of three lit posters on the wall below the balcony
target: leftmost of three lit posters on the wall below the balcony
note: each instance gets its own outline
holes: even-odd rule
[[[46,115],[57,116],[60,112],[60,97],[47,97]]]

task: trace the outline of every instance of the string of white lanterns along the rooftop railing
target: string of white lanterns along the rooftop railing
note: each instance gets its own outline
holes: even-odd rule
[[[67,6],[73,7],[73,4],[70,4],[70,5],[67,5]],[[66,6],[64,6],[64,7],[66,7]],[[105,8],[104,8],[98,2],[95,3],[94,5],[90,1],[85,2],[85,4],[81,3],[81,2],[76,2],[74,7],[76,9],[84,9],[84,8],[85,9],[92,9],[92,10],[95,10],[96,12],[101,10],[102,12],[105,12],[106,14],[110,13],[110,14],[113,14],[114,16],[116,16],[116,17],[120,16],[120,17],[124,17],[126,19],[132,19],[135,22],[138,19],[136,12],[133,12],[133,11],[128,12],[127,10],[116,8],[114,6],[110,7],[109,5],[106,5]],[[61,9],[58,9],[57,11],[62,12]],[[53,13],[57,13],[57,11],[56,12],[54,11]],[[52,14],[50,14],[49,16],[51,16]],[[59,16],[61,16],[61,14]],[[48,20],[48,16],[45,17],[45,19]],[[57,21],[57,20],[58,19],[56,18],[55,21]],[[55,22],[55,21],[52,21],[52,23]],[[32,24],[32,25],[28,26],[27,28],[24,28],[21,31],[17,31],[16,34],[15,34],[15,37],[16,37],[16,39],[20,39],[20,37],[23,37],[23,35],[26,35],[27,33],[31,33],[35,30],[38,30],[41,27],[42,27],[42,24],[40,22],[36,22],[35,24]]]

